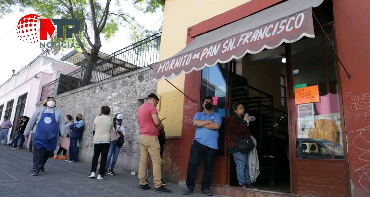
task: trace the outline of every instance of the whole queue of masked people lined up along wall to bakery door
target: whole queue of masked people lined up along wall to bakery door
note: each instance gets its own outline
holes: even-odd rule
[[[163,156],[163,145],[165,141],[164,124],[158,117],[156,106],[159,98],[151,93],[147,97],[147,101],[142,104],[137,111],[137,121],[139,123],[139,144],[140,144],[140,162],[139,162],[139,190],[149,190],[151,187],[148,183],[148,161],[152,161],[153,166],[153,182],[154,191],[162,193],[171,193],[164,185],[166,183],[162,179],[161,163]],[[213,176],[213,163],[218,150],[219,128],[222,124],[221,115],[213,110],[214,104],[212,97],[206,97],[202,102],[203,111],[194,115],[192,124],[195,127],[195,136],[192,140],[190,148],[190,157],[188,161],[186,190],[184,195],[190,195],[194,192],[195,178],[202,159],[204,160],[204,173],[201,183],[203,194],[211,196],[209,188]],[[245,114],[245,109],[242,103],[236,102],[232,105],[234,115],[229,118],[228,131],[229,138],[227,144],[229,153],[233,155],[236,164],[237,179],[239,187],[249,189],[257,189],[252,183],[256,181],[259,175],[258,158],[256,149],[240,150],[237,143],[241,143],[240,139],[256,140],[251,136],[249,131],[248,114]],[[97,180],[105,180],[105,175],[115,175],[114,166],[121,147],[124,143],[125,128],[123,125],[123,115],[116,114],[114,118],[110,117],[110,108],[102,106],[100,115],[97,116],[93,123],[93,143],[94,154],[91,162],[91,170],[89,178],[96,177],[98,160],[100,157],[100,168],[97,174]],[[7,136],[9,128],[12,127],[11,122],[4,117],[4,121],[0,124],[0,137]],[[33,150],[33,167],[31,175],[38,176],[39,172],[45,170],[45,163],[49,157],[52,157],[54,150],[57,148],[58,137],[61,141],[69,138],[69,159],[66,157],[67,149],[61,146],[53,159],[65,159],[67,162],[77,162],[79,140],[82,138],[85,122],[82,114],[77,113],[75,121],[71,115],[64,116],[63,113],[56,108],[56,101],[53,97],[48,97],[44,100],[43,106],[37,108],[31,119],[27,116],[20,117],[17,125],[17,137],[14,139],[13,148],[23,146],[24,137],[30,132],[30,151]],[[231,137],[232,136],[232,137]],[[7,138],[5,137],[5,144]],[[58,157],[60,153],[63,155]],[[110,167],[110,161],[111,167]],[[257,160],[257,165],[256,165]],[[253,162],[253,166],[251,165]],[[252,166],[252,169],[251,169]]]

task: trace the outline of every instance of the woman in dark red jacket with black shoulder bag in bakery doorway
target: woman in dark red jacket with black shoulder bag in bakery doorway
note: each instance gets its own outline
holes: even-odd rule
[[[229,153],[233,155],[236,164],[236,176],[239,182],[239,187],[245,187],[249,189],[258,189],[252,185],[252,181],[249,174],[248,166],[248,153],[243,153],[236,149],[235,139],[248,139],[251,137],[251,132],[248,127],[249,116],[244,115],[244,106],[240,102],[235,102],[231,107],[234,114],[228,120],[228,132],[230,133],[227,138],[227,145]]]

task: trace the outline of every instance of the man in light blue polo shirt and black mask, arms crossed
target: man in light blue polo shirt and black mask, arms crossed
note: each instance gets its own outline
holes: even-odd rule
[[[212,97],[203,99],[204,111],[194,115],[193,125],[195,129],[195,138],[192,141],[190,149],[190,158],[187,166],[187,189],[183,194],[189,195],[194,192],[195,176],[199,165],[204,159],[204,173],[202,179],[202,192],[205,195],[212,195],[209,186],[212,181],[213,161],[217,152],[217,140],[219,138],[219,128],[221,126],[221,115],[212,110]]]

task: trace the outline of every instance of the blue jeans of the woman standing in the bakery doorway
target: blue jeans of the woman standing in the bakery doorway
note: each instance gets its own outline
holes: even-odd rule
[[[251,184],[249,178],[249,166],[248,166],[248,153],[242,153],[240,151],[233,153],[234,161],[236,164],[236,177],[238,178],[239,185],[243,183]]]

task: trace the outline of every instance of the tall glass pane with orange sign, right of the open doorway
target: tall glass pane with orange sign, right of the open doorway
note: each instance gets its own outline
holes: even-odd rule
[[[291,44],[297,158],[344,159],[333,26],[324,30],[329,40],[316,29]]]

